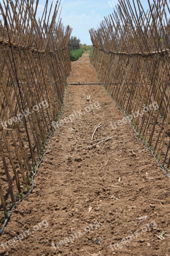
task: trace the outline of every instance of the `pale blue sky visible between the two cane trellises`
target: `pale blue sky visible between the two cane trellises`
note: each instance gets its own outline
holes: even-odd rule
[[[48,0],[51,4],[52,0]],[[54,0],[55,2],[55,0]],[[80,38],[82,44],[91,44],[90,34],[88,32],[92,27],[103,20],[113,12],[117,0],[62,0],[62,22],[64,25],[70,25],[73,29],[72,35]],[[132,0],[130,2],[133,3]],[[143,0],[144,9],[147,8],[147,0]],[[152,2],[152,0],[150,0]],[[41,16],[45,0],[39,1],[37,16]],[[53,7],[54,9],[54,7]]]

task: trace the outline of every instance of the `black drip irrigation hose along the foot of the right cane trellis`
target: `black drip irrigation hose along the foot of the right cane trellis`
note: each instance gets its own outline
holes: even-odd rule
[[[125,111],[124,109],[122,109],[122,108],[117,104],[117,102],[109,95],[109,93],[108,93],[108,91],[105,89],[104,85],[103,85],[103,88],[104,88],[104,90],[107,92],[108,96],[115,102],[116,106],[117,106],[120,110],[122,110],[122,111],[125,113],[129,125],[133,128],[133,131],[136,133],[136,135],[135,135],[136,140],[139,140],[140,142],[142,142],[142,143],[144,144],[144,148],[151,152],[151,154],[153,155],[154,159],[156,160],[156,163],[157,163],[157,164],[161,167],[161,169],[164,171],[164,175],[166,175],[168,178],[170,178],[170,175],[169,175],[169,174],[167,173],[167,171],[164,169],[164,166],[161,165],[161,164],[159,163],[159,161],[156,159],[156,156],[155,156],[154,152],[152,151],[152,149],[148,148],[148,147],[147,147],[147,144],[146,144],[143,140],[139,139],[139,137],[138,137],[138,136],[139,136],[139,133],[135,130],[135,128],[134,128],[133,125],[131,124],[130,119],[129,119],[129,116],[127,115],[126,111]]]

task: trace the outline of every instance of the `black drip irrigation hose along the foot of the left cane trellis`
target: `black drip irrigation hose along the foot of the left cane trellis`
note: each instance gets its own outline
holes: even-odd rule
[[[62,116],[62,114],[63,114],[63,111],[62,111],[62,113],[60,114],[60,116]],[[60,117],[60,116],[59,116],[59,117]],[[48,149],[45,151],[43,157],[41,158],[40,162],[39,162],[38,165],[37,165],[36,170],[34,171],[34,175],[32,176],[32,187],[31,187],[31,190],[30,190],[23,198],[21,198],[19,201],[17,201],[17,203],[15,203],[14,206],[11,208],[10,212],[8,212],[8,218],[6,218],[6,220],[5,220],[4,224],[3,224],[3,227],[2,227],[1,230],[0,230],[0,236],[2,235],[4,228],[5,228],[6,225],[8,224],[8,221],[9,221],[9,219],[10,219],[10,217],[11,217],[11,214],[12,214],[12,212],[14,211],[14,209],[15,209],[15,208],[17,207],[17,205],[20,204],[25,198],[27,198],[28,195],[30,195],[30,194],[32,193],[32,191],[33,191],[33,189],[34,189],[34,177],[35,177],[35,175],[37,174],[38,169],[39,169],[39,167],[40,167],[42,161],[44,160],[45,155],[48,153],[49,149],[51,148],[50,145],[48,144],[48,141],[50,140],[51,136],[57,131],[57,128],[58,128],[57,122],[56,122],[56,125],[57,125],[56,129],[51,132],[50,136],[48,137],[48,140],[47,140],[46,143],[45,143],[45,145],[48,146]]]

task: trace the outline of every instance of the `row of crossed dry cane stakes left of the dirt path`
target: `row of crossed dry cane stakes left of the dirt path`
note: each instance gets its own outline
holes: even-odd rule
[[[39,20],[37,8],[38,0],[0,3],[0,223],[30,189],[71,71],[72,29],[57,19],[58,1],[51,21],[48,0]]]

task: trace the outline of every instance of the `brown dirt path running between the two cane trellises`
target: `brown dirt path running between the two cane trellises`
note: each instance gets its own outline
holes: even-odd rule
[[[89,61],[85,56],[79,61]],[[89,62],[74,62],[69,82],[98,81]],[[170,255],[170,237],[156,236],[170,234],[170,194],[162,194],[170,192],[170,180],[130,125],[112,129],[110,122],[124,117],[101,85],[68,86],[64,121],[50,140],[34,192],[0,237],[0,255]],[[114,137],[89,150],[100,122],[94,140]],[[137,220],[144,216],[143,223]]]

